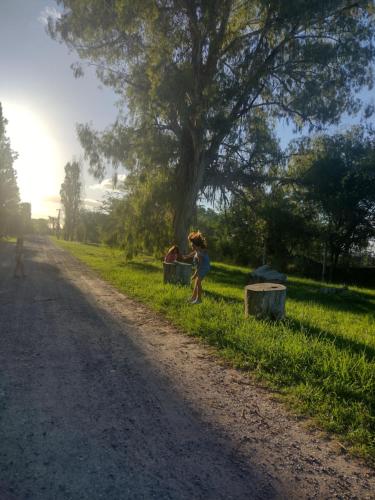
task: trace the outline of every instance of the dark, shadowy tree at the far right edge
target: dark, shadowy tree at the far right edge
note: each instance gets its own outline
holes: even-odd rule
[[[339,258],[375,237],[375,135],[362,127],[303,139],[289,172],[299,176],[300,202],[315,206],[331,271]]]

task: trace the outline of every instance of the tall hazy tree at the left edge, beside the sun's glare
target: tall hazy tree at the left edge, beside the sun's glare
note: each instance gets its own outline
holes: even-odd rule
[[[13,167],[17,154],[11,149],[6,136],[6,124],[0,103],[0,236],[14,229],[9,221],[16,218],[19,203],[17,176]]]

